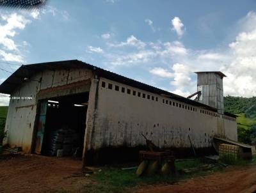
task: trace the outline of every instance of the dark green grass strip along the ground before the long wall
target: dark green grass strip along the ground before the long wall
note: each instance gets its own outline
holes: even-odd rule
[[[180,169],[199,167],[204,163],[199,159],[182,160],[175,162],[177,170],[176,174],[154,174],[152,176],[136,176],[136,169],[122,170],[120,167],[103,167],[102,171],[93,174],[92,179],[94,183],[84,186],[84,192],[90,193],[104,193],[104,192],[132,192],[134,187],[141,185],[157,184],[157,183],[175,183],[179,180],[191,178],[192,176],[202,176],[209,172],[196,171],[193,174],[180,173]],[[215,169],[216,170],[216,169]],[[212,169],[214,171],[214,169]]]

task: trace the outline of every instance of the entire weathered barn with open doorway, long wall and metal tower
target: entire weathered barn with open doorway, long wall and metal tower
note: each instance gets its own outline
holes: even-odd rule
[[[0,86],[10,94],[4,143],[43,155],[76,149],[90,163],[134,157],[141,134],[180,152],[191,143],[209,150],[216,135],[237,141],[236,116],[223,107],[225,75],[197,75],[195,101],[78,60],[20,66]]]

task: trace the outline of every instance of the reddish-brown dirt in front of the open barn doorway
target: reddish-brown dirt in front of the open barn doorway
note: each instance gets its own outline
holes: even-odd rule
[[[81,192],[90,183],[81,176],[81,167],[82,161],[72,158],[0,157],[0,192]]]

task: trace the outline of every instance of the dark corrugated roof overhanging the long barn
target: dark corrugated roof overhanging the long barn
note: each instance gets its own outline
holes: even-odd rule
[[[22,82],[24,82],[24,78],[32,77],[36,72],[41,72],[42,70],[56,70],[56,69],[70,69],[70,68],[87,68],[92,70],[99,77],[105,77],[107,79],[111,79],[116,82],[120,82],[122,84],[127,84],[129,86],[133,86],[135,88],[143,89],[150,93],[156,93],[157,95],[168,96],[169,98],[173,98],[175,100],[179,100],[180,102],[184,102],[186,104],[195,105],[198,107],[202,107],[204,109],[209,109],[211,111],[217,112],[217,109],[210,107],[205,104],[201,104],[194,100],[190,100],[183,96],[175,95],[168,91],[164,91],[163,89],[159,89],[148,84],[144,84],[142,82],[134,81],[133,79],[129,79],[122,75],[118,75],[117,73],[109,72],[108,70],[104,70],[97,66],[90,65],[88,63],[84,63],[83,61],[75,60],[67,60],[67,61],[54,61],[48,63],[37,63],[31,65],[22,65],[18,68],[6,81],[4,81],[0,85],[0,93],[11,94],[12,91],[17,88]],[[234,114],[227,114],[228,116],[236,117]]]

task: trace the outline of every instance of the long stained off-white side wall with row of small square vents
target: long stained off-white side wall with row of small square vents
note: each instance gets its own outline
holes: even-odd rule
[[[106,82],[105,88],[102,81]],[[191,147],[188,135],[196,148],[205,148],[211,146],[211,137],[220,132],[220,123],[223,134],[237,140],[234,118],[224,120],[216,112],[104,78],[100,78],[99,82],[96,113],[92,137],[87,139],[87,150],[145,145],[141,133],[160,148]]]

